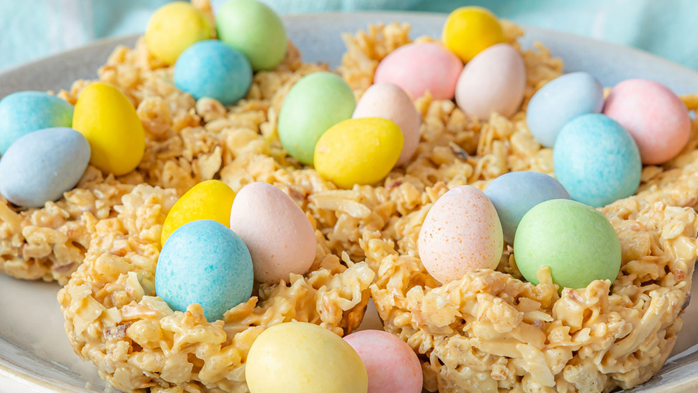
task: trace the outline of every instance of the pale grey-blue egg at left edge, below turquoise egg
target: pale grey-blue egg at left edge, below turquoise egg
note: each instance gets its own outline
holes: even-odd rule
[[[28,133],[0,158],[0,193],[15,205],[43,207],[75,187],[89,157],[89,142],[73,128]]]

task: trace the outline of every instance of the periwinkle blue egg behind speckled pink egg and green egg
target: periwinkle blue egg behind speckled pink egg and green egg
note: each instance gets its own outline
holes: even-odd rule
[[[570,199],[565,187],[552,176],[522,170],[497,177],[484,189],[502,223],[504,241],[514,244],[519,222],[523,215],[540,202],[551,199]]]

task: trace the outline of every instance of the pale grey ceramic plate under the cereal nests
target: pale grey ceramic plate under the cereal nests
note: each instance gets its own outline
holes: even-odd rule
[[[425,13],[329,13],[283,17],[288,36],[304,61],[337,66],[344,52],[341,34],[365,29],[371,22],[409,22],[413,38],[440,36],[445,15]],[[565,71],[587,71],[604,86],[630,77],[657,80],[677,94],[698,92],[698,73],[645,52],[569,34],[526,28],[524,47],[539,40],[565,60]],[[0,98],[20,90],[68,88],[73,80],[96,78],[96,71],[118,44],[135,37],[107,40],[0,73]],[[694,280],[698,275],[694,276]],[[694,281],[695,282],[695,281]],[[80,362],[68,343],[57,304],[58,286],[0,275],[0,392],[116,392],[101,380],[94,366]],[[684,329],[674,357],[658,376],[632,392],[695,392],[698,390],[698,302],[685,311]],[[379,326],[369,309],[362,327]],[[678,354],[678,355],[676,355]],[[20,387],[21,386],[21,387]]]

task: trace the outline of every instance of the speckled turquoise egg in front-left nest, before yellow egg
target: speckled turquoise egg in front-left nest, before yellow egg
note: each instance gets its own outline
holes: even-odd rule
[[[230,228],[213,220],[181,225],[165,242],[155,269],[155,291],[176,311],[204,308],[209,322],[252,295],[252,257]]]

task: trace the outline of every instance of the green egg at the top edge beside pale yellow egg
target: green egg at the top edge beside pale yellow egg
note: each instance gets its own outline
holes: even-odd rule
[[[216,12],[216,31],[223,43],[245,54],[254,71],[273,70],[286,54],[281,18],[259,1],[224,3]]]

